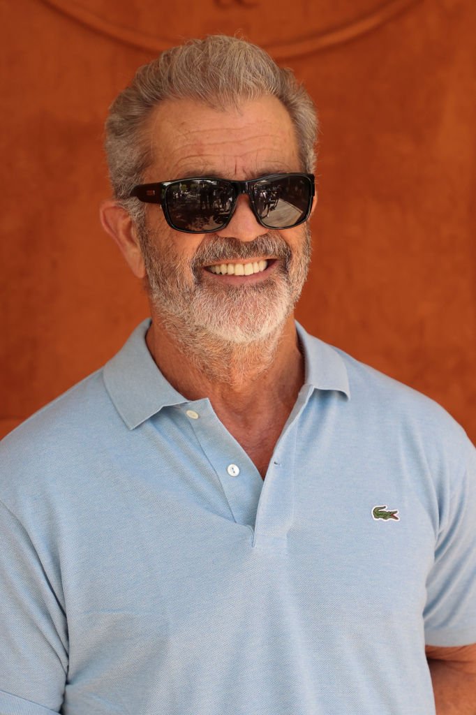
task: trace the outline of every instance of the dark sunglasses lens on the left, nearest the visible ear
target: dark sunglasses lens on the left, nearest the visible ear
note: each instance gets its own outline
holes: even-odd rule
[[[183,179],[170,184],[165,193],[174,227],[197,233],[223,228],[233,199],[232,184],[221,179]]]

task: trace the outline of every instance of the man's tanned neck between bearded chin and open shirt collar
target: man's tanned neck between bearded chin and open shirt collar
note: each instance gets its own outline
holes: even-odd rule
[[[262,413],[279,405],[288,414],[304,382],[294,319],[264,340],[246,344],[184,330],[154,315],[147,346],[165,378],[188,400],[209,398],[217,413]],[[285,405],[285,407],[284,407]]]

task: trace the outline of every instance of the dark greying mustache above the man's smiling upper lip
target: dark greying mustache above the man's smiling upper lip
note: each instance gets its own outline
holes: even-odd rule
[[[248,242],[233,237],[217,237],[197,249],[191,262],[191,268],[196,270],[204,265],[217,262],[226,263],[237,258],[241,258],[243,261],[252,261],[263,256],[280,258],[287,266],[292,258],[292,252],[281,237],[272,233],[258,236]]]

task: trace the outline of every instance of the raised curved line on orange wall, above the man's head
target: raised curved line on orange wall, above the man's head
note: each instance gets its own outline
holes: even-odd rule
[[[174,41],[160,39],[147,33],[129,29],[122,25],[116,25],[88,9],[81,7],[74,0],[42,0],[44,4],[53,7],[62,14],[86,25],[100,34],[106,35],[115,40],[122,41],[142,50],[152,50],[162,52],[164,49],[174,46]],[[348,25],[343,25],[335,29],[324,31],[322,34],[304,37],[277,44],[264,44],[269,54],[275,58],[287,58],[317,52],[335,45],[349,42],[360,35],[366,34],[377,27],[385,24],[393,17],[412,6],[420,4],[422,0],[390,0],[384,6],[379,7],[372,13],[353,21]]]

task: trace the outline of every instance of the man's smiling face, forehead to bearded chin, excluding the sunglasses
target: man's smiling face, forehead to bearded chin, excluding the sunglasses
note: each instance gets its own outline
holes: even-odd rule
[[[144,182],[254,179],[302,170],[291,119],[274,97],[247,102],[239,111],[167,100],[149,131],[153,160]],[[244,195],[229,225],[210,234],[175,231],[162,209],[149,204],[139,237],[154,310],[162,320],[215,340],[252,342],[282,327],[309,267],[307,224],[266,229]],[[238,265],[249,275],[235,275],[242,273]]]

